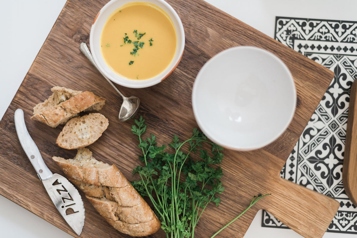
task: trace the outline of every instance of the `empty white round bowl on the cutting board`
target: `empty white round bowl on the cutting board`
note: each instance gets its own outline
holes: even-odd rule
[[[227,49],[198,73],[192,108],[213,142],[232,150],[254,150],[275,141],[290,124],[296,90],[286,65],[252,46]]]

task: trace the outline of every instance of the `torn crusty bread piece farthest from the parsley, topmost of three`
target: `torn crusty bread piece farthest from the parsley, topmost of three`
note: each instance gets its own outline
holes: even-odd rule
[[[89,91],[76,91],[65,87],[52,87],[52,95],[34,107],[31,119],[51,127],[65,124],[81,111],[99,111],[105,99]]]

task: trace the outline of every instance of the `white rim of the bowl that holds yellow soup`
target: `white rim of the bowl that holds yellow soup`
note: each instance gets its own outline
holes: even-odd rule
[[[149,2],[154,5],[157,5],[157,3],[159,3],[159,4],[164,5],[169,10],[169,12],[168,12],[166,9],[162,9],[162,7],[159,6],[162,10],[166,11],[167,14],[169,14],[169,16],[171,17],[171,20],[174,22],[174,27],[175,27],[176,35],[177,35],[176,52],[175,52],[175,55],[174,55],[172,61],[169,64],[169,66],[167,66],[167,68],[164,71],[162,71],[159,75],[156,75],[155,77],[152,77],[152,78],[146,79],[146,80],[126,79],[126,78],[122,77],[121,75],[116,74],[114,71],[112,71],[110,69],[110,67],[108,67],[106,65],[105,62],[103,65],[102,62],[99,61],[99,59],[98,59],[98,57],[102,58],[102,55],[100,53],[100,49],[98,52],[98,50],[95,48],[94,43],[93,43],[94,37],[96,37],[94,35],[94,31],[96,30],[98,19],[100,19],[100,17],[103,15],[103,13],[106,12],[107,9],[110,8],[113,4],[116,4],[117,2],[121,2],[121,1],[123,2],[122,5],[129,3],[129,2]],[[119,7],[117,7],[117,8],[119,8]],[[113,11],[110,11],[109,15],[112,12],[114,12],[116,9],[114,9]],[[172,14],[172,16],[174,16],[174,19],[172,19],[172,16],[170,14]],[[176,27],[175,21],[177,22],[178,27]],[[96,31],[99,31],[101,33],[101,30],[97,29]],[[100,37],[100,35],[99,35],[99,37]],[[179,44],[179,42],[180,42],[180,44]],[[91,25],[91,30],[90,30],[90,35],[89,35],[89,43],[90,43],[91,54],[93,56],[94,62],[96,63],[99,70],[108,79],[110,79],[114,83],[117,83],[121,86],[128,87],[128,88],[145,88],[145,87],[150,87],[150,86],[156,85],[157,83],[163,81],[164,79],[166,79],[167,76],[169,76],[172,73],[172,71],[174,71],[176,69],[177,65],[181,61],[183,51],[185,49],[185,31],[184,31],[184,28],[182,25],[182,21],[181,21],[180,17],[178,16],[177,12],[175,11],[175,9],[164,0],[111,0],[111,1],[107,2],[100,9],[97,16],[95,17],[93,24]],[[115,77],[112,76],[111,74],[109,74],[108,71],[112,72],[112,74],[115,75]]]

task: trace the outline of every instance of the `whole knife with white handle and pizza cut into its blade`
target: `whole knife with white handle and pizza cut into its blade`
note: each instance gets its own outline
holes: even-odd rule
[[[41,153],[27,131],[24,112],[15,111],[15,127],[22,148],[44,184],[47,193],[65,221],[79,236],[85,220],[82,197],[74,185],[60,174],[52,173],[42,159]]]

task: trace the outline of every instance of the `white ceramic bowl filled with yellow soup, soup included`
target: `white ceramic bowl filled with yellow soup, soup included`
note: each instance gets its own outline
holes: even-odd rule
[[[185,33],[164,0],[111,0],[95,17],[89,42],[95,63],[111,81],[144,88],[176,69]]]

